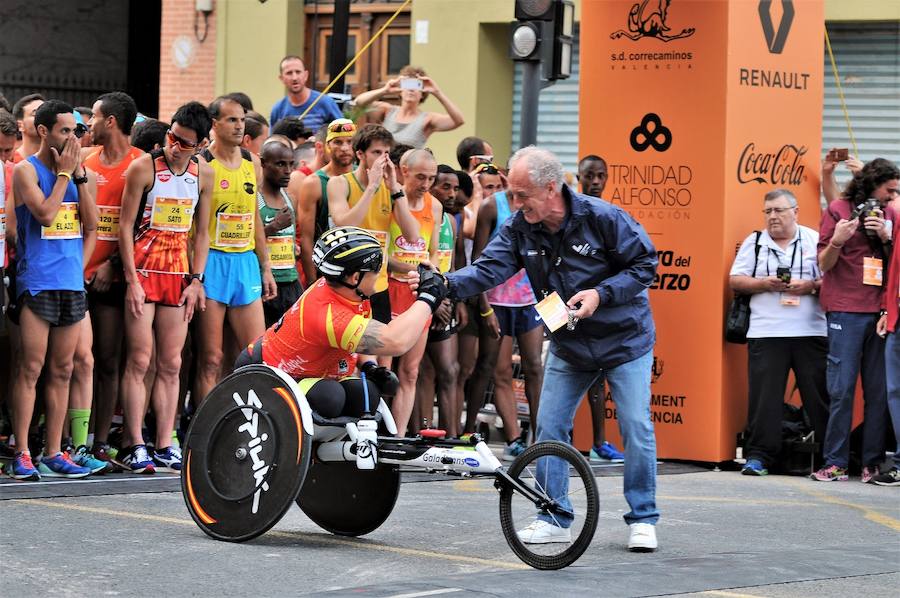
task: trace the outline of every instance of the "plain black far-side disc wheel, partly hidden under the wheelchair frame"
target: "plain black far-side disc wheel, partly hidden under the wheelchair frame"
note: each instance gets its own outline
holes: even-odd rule
[[[313,462],[297,504],[319,527],[339,536],[375,531],[394,510],[400,493],[396,465],[358,469],[354,462]]]

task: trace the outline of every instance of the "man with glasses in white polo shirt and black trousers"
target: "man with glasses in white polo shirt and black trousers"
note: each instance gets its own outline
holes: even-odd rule
[[[744,239],[731,266],[731,289],[752,295],[744,475],[766,475],[778,458],[789,371],[794,372],[815,437],[825,433],[828,342],[825,314],[816,297],[819,234],[798,224],[798,211],[797,198],[787,189],[766,193],[766,229]]]

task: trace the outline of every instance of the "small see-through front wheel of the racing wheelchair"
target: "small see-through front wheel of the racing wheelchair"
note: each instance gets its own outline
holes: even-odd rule
[[[571,445],[531,445],[496,483],[503,535],[527,565],[562,569],[590,545],[600,508],[597,482],[590,464]]]

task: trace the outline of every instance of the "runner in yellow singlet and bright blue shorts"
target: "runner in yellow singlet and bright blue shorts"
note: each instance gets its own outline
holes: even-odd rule
[[[265,332],[262,301],[277,294],[256,199],[262,168],[258,157],[240,147],[244,108],[219,97],[209,105],[209,113],[214,141],[202,156],[213,168],[214,182],[203,285],[206,311],[196,330],[199,352],[192,396],[198,400],[209,394],[222,373],[226,316],[238,346],[246,347]]]

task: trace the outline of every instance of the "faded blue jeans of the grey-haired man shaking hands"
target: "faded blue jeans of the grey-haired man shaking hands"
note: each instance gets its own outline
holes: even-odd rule
[[[650,369],[653,351],[607,370],[579,370],[554,355],[547,357],[541,405],[538,409],[537,439],[572,442],[575,412],[588,388],[595,382],[609,382],[619,432],[625,445],[625,500],[631,511],[625,522],[656,524],[656,436],[650,420]],[[541,459],[537,466],[537,481],[551,497],[563,497],[564,509],[571,503],[564,498],[569,489],[569,468],[555,457]],[[540,515],[548,523],[568,527],[572,518],[556,519]]]

